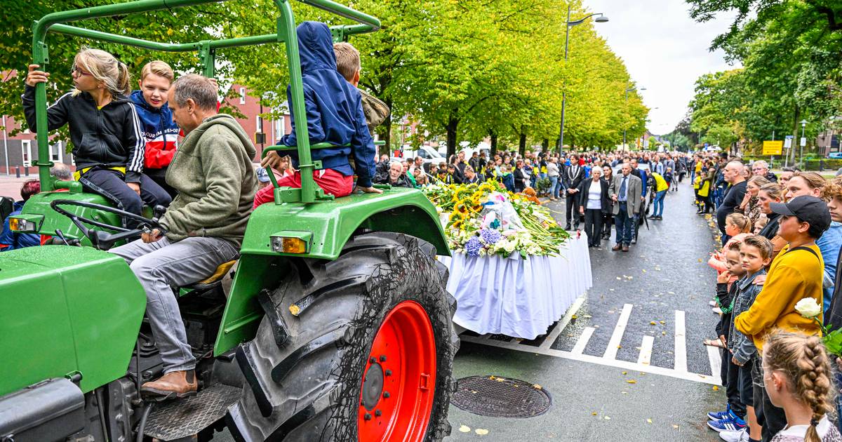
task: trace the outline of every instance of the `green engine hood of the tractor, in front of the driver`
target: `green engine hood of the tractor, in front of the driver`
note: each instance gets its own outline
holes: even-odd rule
[[[0,396],[67,375],[81,375],[88,392],[125,375],[146,304],[114,254],[68,246],[0,253],[0,349],[8,361],[0,364]]]

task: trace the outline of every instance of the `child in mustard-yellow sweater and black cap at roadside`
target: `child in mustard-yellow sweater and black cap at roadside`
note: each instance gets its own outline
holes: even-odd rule
[[[802,317],[795,306],[803,298],[813,298],[822,305],[822,280],[824,263],[816,246],[816,239],[830,226],[828,205],[816,197],[797,196],[786,203],[770,203],[770,210],[781,215],[778,235],[787,244],[772,262],[763,290],[747,312],[734,319],[734,328],[754,341],[759,358],[755,359],[752,377],[756,398],[762,397],[762,413],[758,413],[763,426],[763,439],[786,426],[786,415],[781,407],[770,402],[763,385],[763,344],[773,329],[821,334],[813,319]]]

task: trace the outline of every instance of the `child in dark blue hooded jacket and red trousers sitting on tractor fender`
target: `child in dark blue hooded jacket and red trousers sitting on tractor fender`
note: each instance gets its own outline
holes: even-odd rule
[[[311,146],[329,142],[335,147],[316,149],[311,152],[313,160],[322,161],[322,169],[313,172],[316,184],[326,194],[340,197],[354,189],[354,173],[357,187],[366,193],[381,193],[371,187],[374,177],[376,149],[374,140],[366,125],[360,91],[354,88],[337,71],[333,39],[327,24],[304,22],[296,28],[298,53],[301,57],[301,79],[304,83],[304,104],[306,106],[307,132]],[[286,88],[288,103],[292,103],[289,86]],[[290,109],[290,116],[293,110]],[[296,146],[295,119],[292,132],[280,139],[279,145]],[[349,145],[349,146],[346,146]],[[354,156],[355,170],[351,168],[349,155]],[[298,165],[298,154],[290,152],[292,167]],[[263,165],[280,167],[280,155],[269,152]],[[301,175],[296,171],[278,180],[281,187],[301,187]],[[254,207],[274,200],[271,186],[258,190],[254,196]]]

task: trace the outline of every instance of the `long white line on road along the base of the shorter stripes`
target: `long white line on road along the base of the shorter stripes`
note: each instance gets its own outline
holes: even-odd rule
[[[474,336],[461,336],[461,339],[468,343],[489,345],[491,347],[497,347],[498,349],[510,349],[531,354],[543,354],[546,356],[554,356],[557,358],[589,362],[591,364],[607,365],[610,367],[621,368],[623,370],[640,371],[642,373],[653,375],[664,375],[674,377],[676,379],[682,379],[685,381],[704,382],[706,384],[711,384],[714,386],[722,385],[719,381],[719,376],[713,377],[710,375],[699,375],[695,373],[689,373],[687,371],[678,371],[669,368],[658,367],[656,365],[642,365],[637,364],[636,362],[627,362],[625,360],[620,359],[605,359],[600,356],[591,356],[589,354],[573,354],[572,352],[555,349],[545,350],[539,349],[538,347],[532,347],[530,345],[524,345],[521,343],[488,340]]]

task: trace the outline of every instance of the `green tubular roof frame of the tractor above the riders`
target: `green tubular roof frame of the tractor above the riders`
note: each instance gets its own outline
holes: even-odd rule
[[[46,36],[49,32],[58,34],[74,35],[77,37],[92,40],[108,41],[120,45],[131,45],[146,48],[152,51],[186,52],[198,51],[205,77],[213,77],[214,63],[216,61],[216,50],[246,46],[264,45],[267,43],[285,43],[286,56],[290,72],[290,110],[296,124],[296,139],[298,146],[296,150],[301,169],[301,189],[278,188],[275,184],[275,202],[301,202],[312,203],[317,200],[330,200],[330,195],[325,195],[313,180],[313,170],[320,168],[320,164],[312,161],[310,155],[310,137],[307,134],[306,111],[304,107],[304,93],[301,82],[301,61],[298,56],[298,39],[296,36],[296,22],[292,15],[290,0],[273,0],[280,9],[280,17],[277,19],[275,34],[253,35],[223,40],[201,40],[192,43],[160,43],[149,40],[136,39],[125,35],[109,34],[92,29],[84,29],[65,24],[67,22],[98,19],[113,15],[127,13],[144,13],[159,9],[181,8],[195,6],[205,3],[222,3],[231,0],[135,0],[127,3],[116,3],[93,8],[76,9],[72,11],[49,13],[36,21],[32,26],[32,55],[33,62],[45,68],[50,62],[49,50],[46,43]],[[339,25],[331,27],[333,40],[344,40],[348,35],[364,34],[380,29],[380,20],[359,11],[349,8],[332,0],[299,0],[316,8],[321,8],[330,13],[337,14],[346,19],[354,20],[359,24]],[[38,127],[47,127],[46,113],[46,84],[35,85],[35,115]],[[42,191],[55,189],[70,189],[72,192],[81,192],[81,184],[75,181],[60,181],[51,177],[50,168],[53,166],[49,152],[49,131],[39,130],[36,134],[38,141],[38,175]],[[319,148],[322,146],[313,146]],[[274,182],[274,180],[273,180]]]

